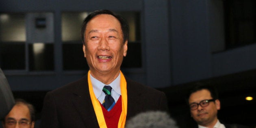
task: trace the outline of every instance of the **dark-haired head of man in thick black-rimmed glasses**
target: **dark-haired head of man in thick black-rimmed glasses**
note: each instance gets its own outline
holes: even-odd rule
[[[202,126],[211,126],[217,122],[217,111],[220,102],[216,89],[207,86],[196,86],[189,94],[188,103],[191,117]]]

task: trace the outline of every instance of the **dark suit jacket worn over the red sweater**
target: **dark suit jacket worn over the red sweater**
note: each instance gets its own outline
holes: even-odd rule
[[[145,111],[168,111],[165,93],[126,78],[126,121]],[[41,128],[99,128],[87,76],[46,94]]]

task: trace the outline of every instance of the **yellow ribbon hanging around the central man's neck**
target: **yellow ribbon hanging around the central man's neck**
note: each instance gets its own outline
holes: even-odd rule
[[[122,98],[122,112],[119,118],[118,128],[124,128],[125,121],[126,121],[126,114],[127,114],[127,89],[126,89],[126,80],[124,78],[124,74],[121,71],[120,71],[120,74],[121,74],[120,87],[121,87],[121,98]],[[102,112],[102,108],[100,106],[100,102],[98,101],[98,99],[95,97],[95,94],[93,93],[93,87],[90,79],[90,71],[88,72],[88,85],[89,85],[89,92],[91,96],[91,102],[93,104],[93,108],[98,120],[98,124],[100,128],[107,128],[104,115]]]

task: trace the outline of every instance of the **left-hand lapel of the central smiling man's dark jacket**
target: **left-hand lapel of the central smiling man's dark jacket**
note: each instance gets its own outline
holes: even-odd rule
[[[80,113],[86,127],[99,127],[97,117],[91,103],[87,76],[80,79],[79,84],[76,86],[76,89],[74,89],[72,103],[74,104],[75,109]]]

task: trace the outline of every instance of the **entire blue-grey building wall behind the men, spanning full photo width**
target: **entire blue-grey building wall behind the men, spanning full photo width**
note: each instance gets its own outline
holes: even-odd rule
[[[141,68],[124,73],[143,84],[162,88],[256,69],[256,45],[223,52],[221,0],[3,0],[0,12],[54,13],[54,72],[4,71],[13,91],[52,90],[87,72],[63,72],[61,13],[63,11],[139,11]]]

